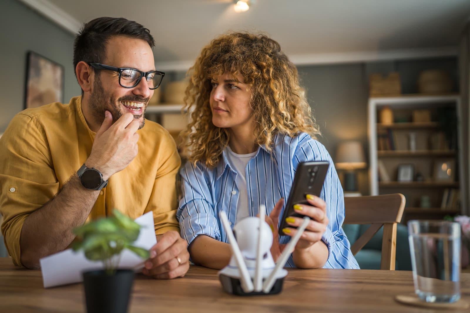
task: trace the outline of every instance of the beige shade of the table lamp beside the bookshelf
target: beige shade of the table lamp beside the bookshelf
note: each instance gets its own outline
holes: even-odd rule
[[[359,141],[345,141],[338,145],[336,153],[336,168],[357,169],[366,168],[366,157]]]

